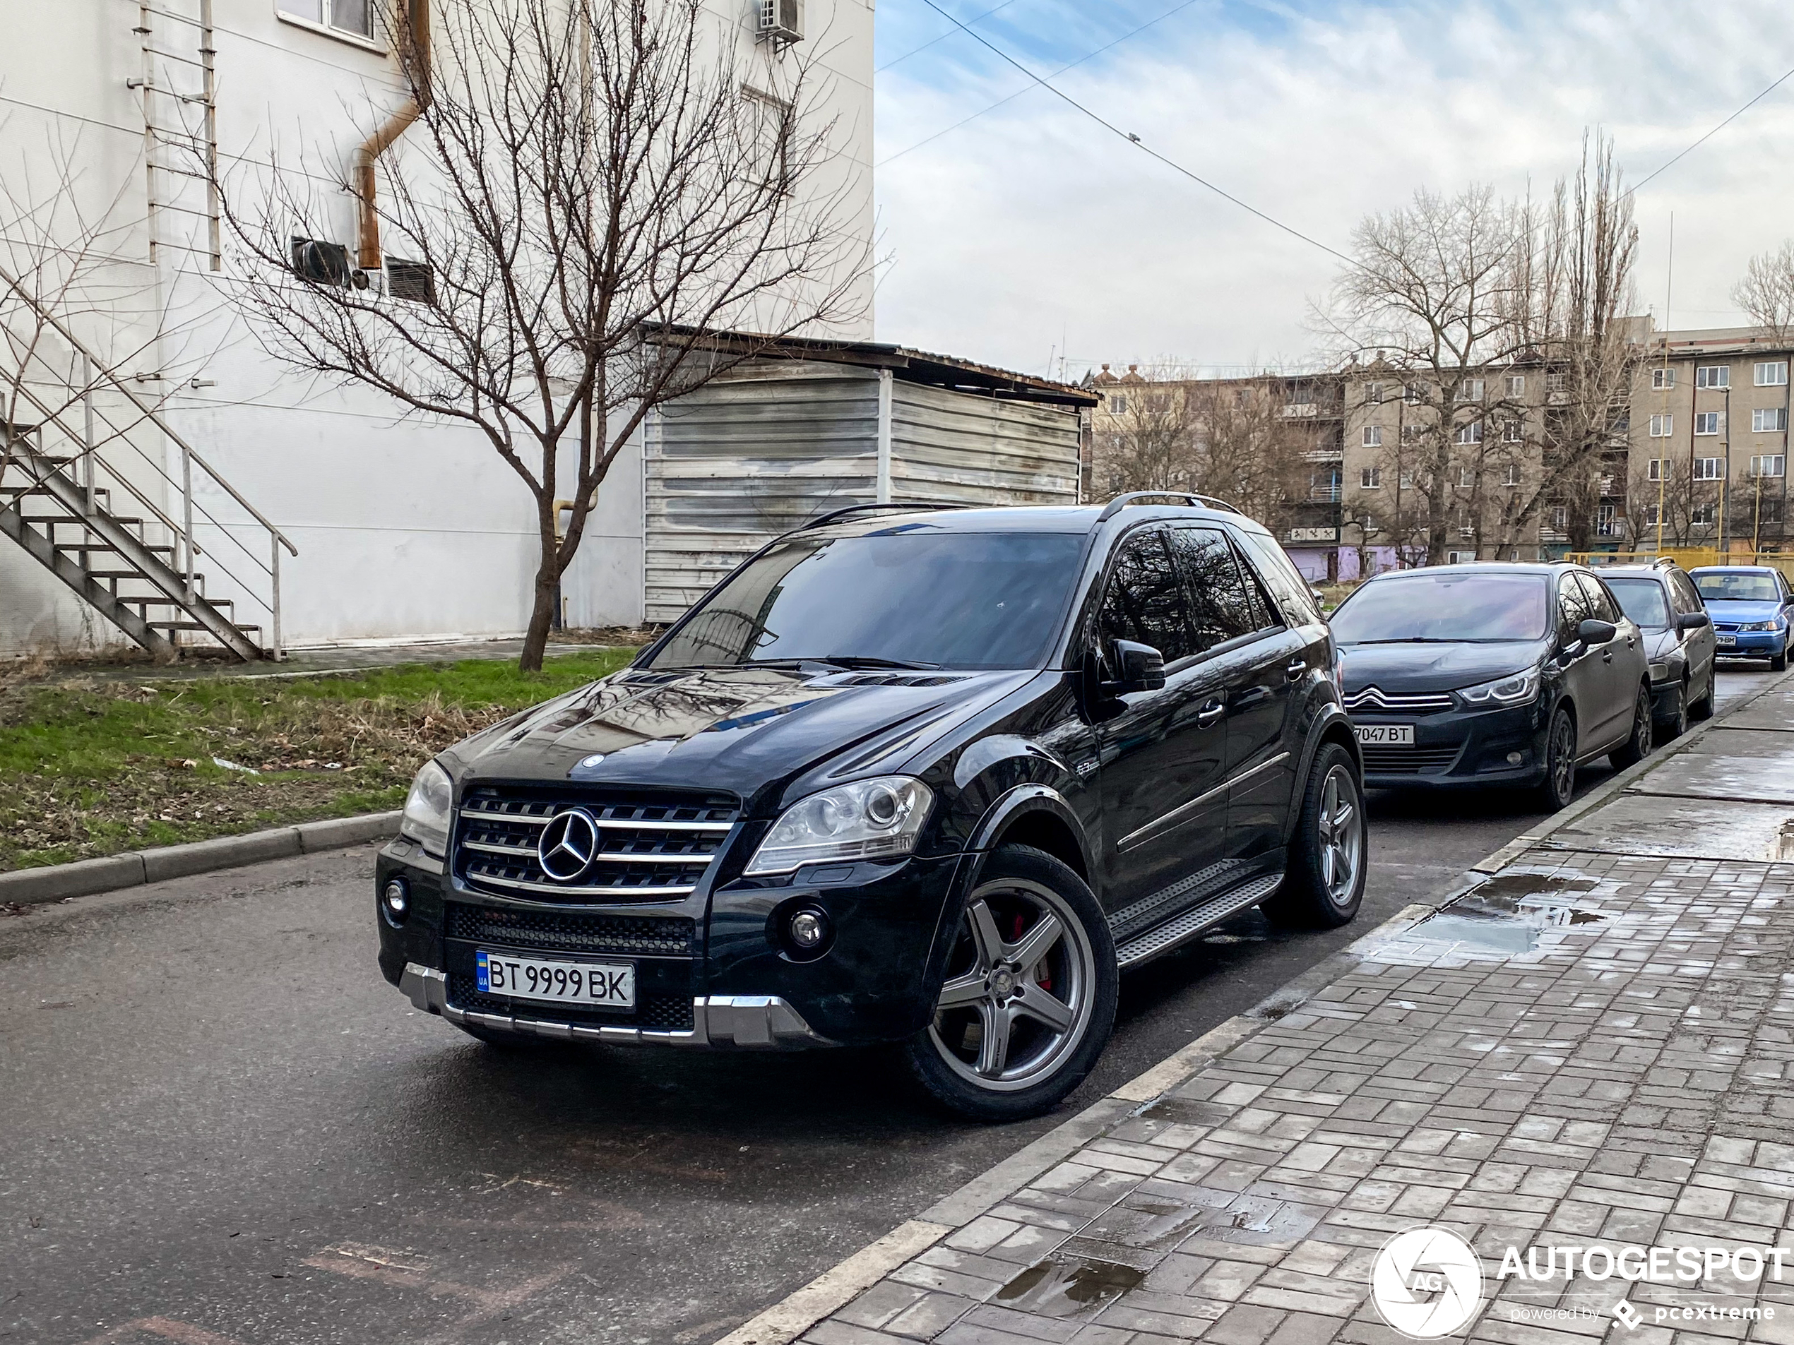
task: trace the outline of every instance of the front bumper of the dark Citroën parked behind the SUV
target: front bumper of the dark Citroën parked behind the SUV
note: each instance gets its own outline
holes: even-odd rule
[[[1545,698],[1494,710],[1354,714],[1353,725],[1414,725],[1414,746],[1363,746],[1372,789],[1528,785],[1545,777]],[[1518,760],[1509,760],[1518,757]]]

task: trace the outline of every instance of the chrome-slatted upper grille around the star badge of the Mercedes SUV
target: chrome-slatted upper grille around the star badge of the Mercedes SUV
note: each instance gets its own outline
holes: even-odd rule
[[[576,839],[590,823],[596,850],[583,868],[556,877],[544,870],[538,845],[554,818],[572,811],[583,814]],[[676,900],[698,886],[739,814],[727,794],[479,785],[461,800],[456,872],[468,886],[506,897]]]

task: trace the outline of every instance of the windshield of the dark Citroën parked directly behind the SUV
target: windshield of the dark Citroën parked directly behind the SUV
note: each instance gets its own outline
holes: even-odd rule
[[[1543,640],[1550,583],[1532,574],[1450,568],[1372,579],[1333,613],[1340,644]]]

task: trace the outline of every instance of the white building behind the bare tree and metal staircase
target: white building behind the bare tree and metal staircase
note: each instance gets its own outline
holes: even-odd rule
[[[79,343],[118,375],[59,418],[41,414],[36,430],[29,409],[0,414],[39,439],[47,430],[79,439],[97,418],[111,511],[144,516],[136,534],[176,570],[187,543],[167,538],[192,516],[190,568],[205,572],[208,597],[235,604],[237,622],[262,628],[262,646],[274,568],[289,647],[506,635],[529,615],[536,524],[511,468],[474,430],[405,420],[364,389],[294,378],[224,303],[230,269],[213,267],[230,233],[217,240],[206,185],[181,172],[197,145],[226,169],[278,161],[312,174],[339,206],[327,242],[352,246],[355,197],[341,183],[370,127],[402,100],[375,9],[391,2],[0,0],[0,187],[18,235],[7,246],[16,262],[45,230],[74,240],[77,219],[104,221],[88,244],[104,249],[102,289],[54,314],[72,343],[56,332],[47,341],[52,364],[77,366]],[[470,0],[436,0],[457,2]],[[709,9],[716,41],[736,43],[743,68],[779,59],[755,39],[757,4]],[[818,115],[838,138],[836,178],[823,190],[847,183],[858,194],[852,217],[870,249],[872,2],[804,9],[806,54],[827,90]],[[404,154],[405,140],[389,152]],[[36,219],[20,221],[22,204]],[[863,312],[818,335],[870,339],[870,278]],[[147,421],[138,400],[158,407],[160,421]],[[637,443],[605,481],[563,581],[570,624],[642,619],[642,475]],[[0,479],[0,511],[23,508],[4,491]],[[0,655],[122,642],[16,534],[0,538]]]

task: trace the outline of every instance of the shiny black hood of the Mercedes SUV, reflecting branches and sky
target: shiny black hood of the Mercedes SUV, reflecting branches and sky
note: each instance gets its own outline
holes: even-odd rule
[[[841,672],[820,665],[624,669],[445,753],[461,780],[727,789],[768,816],[788,785],[899,769],[1035,672]],[[840,760],[838,760],[840,759]],[[822,787],[806,782],[798,793]]]

